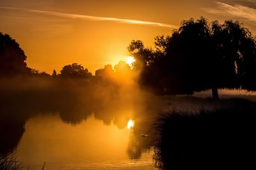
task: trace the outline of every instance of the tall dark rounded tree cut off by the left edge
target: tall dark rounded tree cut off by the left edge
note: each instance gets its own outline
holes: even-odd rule
[[[0,75],[12,76],[28,73],[26,55],[19,43],[0,32]]]

